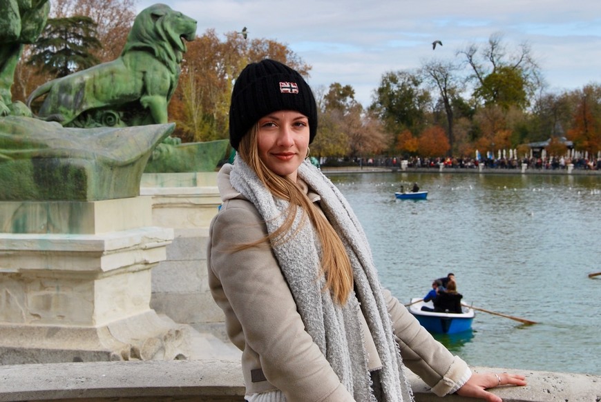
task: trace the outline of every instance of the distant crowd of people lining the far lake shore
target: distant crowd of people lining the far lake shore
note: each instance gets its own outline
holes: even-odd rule
[[[374,167],[401,168],[402,160],[400,157],[364,158],[361,161],[356,161],[356,163]],[[536,170],[565,170],[570,164],[577,170],[601,170],[601,159],[598,158],[530,157],[517,159],[475,159],[461,157],[410,157],[406,160],[408,161],[408,168],[439,168],[443,164],[446,168],[475,169],[479,168],[479,165],[484,164],[486,168],[490,169],[521,169],[522,163],[526,163],[528,169]]]

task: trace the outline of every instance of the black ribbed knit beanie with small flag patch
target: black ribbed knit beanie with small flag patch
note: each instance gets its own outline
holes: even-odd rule
[[[303,77],[279,61],[265,59],[245,67],[236,79],[229,106],[229,142],[240,140],[261,117],[278,110],[296,110],[309,119],[309,143],[317,133],[317,106]]]

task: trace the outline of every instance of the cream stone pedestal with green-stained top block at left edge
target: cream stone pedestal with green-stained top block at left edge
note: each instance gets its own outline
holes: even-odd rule
[[[149,197],[0,202],[0,364],[182,358],[150,308],[172,240]]]

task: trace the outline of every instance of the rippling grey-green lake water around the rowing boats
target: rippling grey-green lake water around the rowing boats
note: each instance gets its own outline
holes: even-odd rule
[[[470,365],[601,375],[601,176],[330,174],[403,303],[454,272],[473,331],[437,336]],[[414,181],[428,200],[397,200]]]

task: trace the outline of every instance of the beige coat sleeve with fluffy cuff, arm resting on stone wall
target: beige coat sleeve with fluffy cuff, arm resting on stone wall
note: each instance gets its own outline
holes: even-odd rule
[[[438,396],[463,385],[470,376],[467,363],[434,339],[390,291],[383,293],[403,363],[409,370],[420,376]]]

